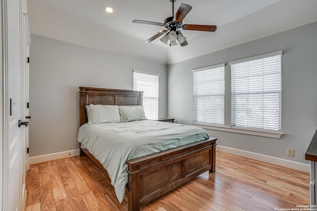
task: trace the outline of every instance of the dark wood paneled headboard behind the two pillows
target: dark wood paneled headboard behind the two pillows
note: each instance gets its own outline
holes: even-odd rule
[[[88,122],[86,105],[142,105],[143,91],[79,87],[80,125]]]

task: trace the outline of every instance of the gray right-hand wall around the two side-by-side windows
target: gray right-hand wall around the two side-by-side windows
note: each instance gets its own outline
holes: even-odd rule
[[[219,29],[221,30],[221,29]],[[280,139],[208,130],[218,144],[308,163],[305,152],[317,128],[317,22],[263,39],[200,56],[168,67],[167,113],[192,123],[192,70],[225,63],[225,126],[230,127],[229,61],[283,50],[282,132]],[[286,155],[295,149],[295,157]]]

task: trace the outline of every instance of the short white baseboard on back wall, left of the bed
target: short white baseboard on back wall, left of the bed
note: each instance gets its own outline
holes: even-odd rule
[[[57,152],[57,153],[52,153],[47,155],[34,156],[29,158],[29,164],[30,165],[38,164],[38,163],[68,158],[68,157],[74,157],[77,155],[79,155],[79,149],[69,150],[64,152]]]

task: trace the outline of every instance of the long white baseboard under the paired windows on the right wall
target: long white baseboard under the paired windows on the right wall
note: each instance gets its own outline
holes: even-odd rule
[[[248,151],[234,149],[231,147],[225,147],[225,146],[221,146],[221,145],[217,145],[216,150],[221,151],[221,152],[230,153],[233,155],[238,155],[238,156],[245,157],[245,158],[250,158],[253,160],[262,161],[262,162],[269,163],[269,164],[274,164],[277,166],[286,167],[289,169],[296,169],[296,170],[304,171],[304,172],[308,172],[308,173],[310,172],[310,166],[308,164],[303,164],[303,163],[299,163],[299,162],[295,162],[295,161],[289,161],[289,160],[285,160],[285,159],[281,159],[281,158],[275,158],[275,157],[268,156],[268,155],[258,154],[258,153],[254,153],[254,152],[248,152]]]

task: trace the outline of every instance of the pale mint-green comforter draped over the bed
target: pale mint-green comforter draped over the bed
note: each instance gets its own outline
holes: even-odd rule
[[[84,124],[78,131],[81,147],[107,170],[120,203],[128,183],[127,160],[207,138],[207,131],[200,127],[151,120]]]

